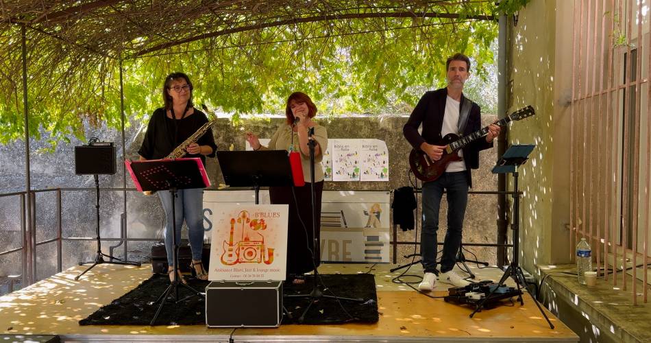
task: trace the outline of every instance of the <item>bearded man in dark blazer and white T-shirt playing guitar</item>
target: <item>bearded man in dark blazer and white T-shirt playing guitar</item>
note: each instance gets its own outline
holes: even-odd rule
[[[403,128],[404,137],[416,149],[425,152],[432,161],[439,161],[446,148],[441,144],[446,134],[461,135],[481,128],[480,108],[463,96],[463,84],[469,78],[470,60],[463,54],[455,54],[447,59],[447,87],[428,91],[421,97],[409,120]],[[418,128],[422,124],[422,134]],[[468,189],[472,187],[471,169],[479,167],[480,150],[493,147],[493,139],[500,134],[500,126],[487,127],[486,139],[478,139],[467,144],[458,152],[461,161],[452,161],[445,172],[436,180],[424,182],[423,222],[421,231],[421,257],[425,275],[419,289],[431,291],[437,281],[437,230],[439,229],[439,209],[443,190],[447,191],[447,233],[441,257],[443,283],[463,287],[469,282],[452,269],[461,244],[461,229],[468,201]]]

